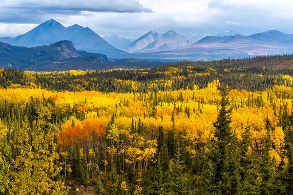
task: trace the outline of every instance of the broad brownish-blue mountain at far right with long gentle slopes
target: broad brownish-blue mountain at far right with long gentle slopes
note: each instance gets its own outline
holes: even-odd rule
[[[223,59],[293,53],[293,34],[269,30],[250,36],[207,36],[191,45],[173,51],[152,54],[164,59]],[[152,58],[151,55],[149,58]]]

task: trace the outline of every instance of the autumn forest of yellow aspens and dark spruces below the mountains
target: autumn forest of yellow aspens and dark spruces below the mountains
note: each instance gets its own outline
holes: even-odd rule
[[[0,194],[293,195],[292,65],[0,69]]]

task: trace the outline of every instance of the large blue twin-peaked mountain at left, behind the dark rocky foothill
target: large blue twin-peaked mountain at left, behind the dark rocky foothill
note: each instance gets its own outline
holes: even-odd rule
[[[52,19],[18,36],[11,41],[10,44],[37,47],[40,45],[49,45],[60,40],[70,40],[75,48],[87,52],[108,54],[110,56],[119,56],[126,53],[107,43],[88,27],[84,28],[77,24],[64,27],[62,24]]]

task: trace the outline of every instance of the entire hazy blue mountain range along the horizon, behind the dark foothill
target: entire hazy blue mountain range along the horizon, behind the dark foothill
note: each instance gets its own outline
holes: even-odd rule
[[[11,48],[13,48],[12,46],[26,47],[26,49],[14,48],[15,50],[12,49],[11,51],[25,53],[31,48],[39,54],[43,52],[40,51],[40,46],[45,47],[43,45],[68,40],[76,48],[79,55],[84,51],[105,55],[108,59],[135,59],[134,61],[136,59],[148,61],[209,60],[293,53],[293,35],[277,30],[244,36],[232,30],[224,29],[217,36],[206,36],[199,39],[200,36],[208,34],[210,33],[205,32],[184,36],[174,30],[169,30],[166,33],[149,31],[131,42],[130,39],[118,35],[108,35],[102,38],[88,27],[77,24],[64,27],[55,20],[47,20],[23,35],[14,38],[0,38],[0,42],[9,44]],[[4,60],[3,54],[5,53],[0,53],[2,60]],[[22,53],[19,53],[19,57],[16,56],[15,58],[20,59],[20,57],[26,59]],[[117,62],[117,60],[115,61]],[[9,66],[8,62],[15,66],[12,63],[15,62],[12,58],[10,58],[10,61],[0,61],[0,63]],[[87,62],[90,62],[90,60]],[[32,60],[24,60],[23,63],[32,63]]]

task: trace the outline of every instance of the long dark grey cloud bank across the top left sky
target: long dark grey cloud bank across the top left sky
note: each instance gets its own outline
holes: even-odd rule
[[[82,12],[152,13],[139,0],[2,0],[0,22],[37,23]]]

